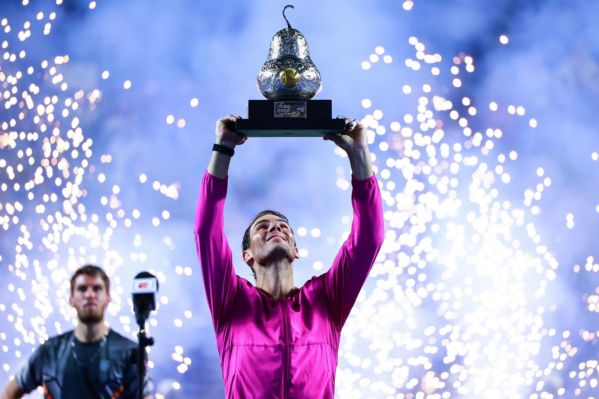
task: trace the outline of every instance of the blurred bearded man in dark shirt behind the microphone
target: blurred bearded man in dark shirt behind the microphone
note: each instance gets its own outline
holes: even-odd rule
[[[130,357],[137,343],[106,326],[108,303],[110,281],[104,270],[92,265],[78,269],[71,278],[69,298],[77,310],[77,327],[35,349],[1,399],[20,398],[38,386],[47,399],[137,398],[137,366]],[[144,398],[152,398],[153,388],[147,373]]]

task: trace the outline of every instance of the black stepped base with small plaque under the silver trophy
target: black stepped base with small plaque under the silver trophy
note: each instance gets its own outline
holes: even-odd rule
[[[247,119],[235,121],[235,132],[248,137],[322,137],[344,129],[344,119],[332,118],[331,100],[249,100]]]

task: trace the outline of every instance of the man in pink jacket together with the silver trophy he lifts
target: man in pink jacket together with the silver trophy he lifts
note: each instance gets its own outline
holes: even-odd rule
[[[196,208],[195,240],[226,398],[332,398],[340,331],[383,242],[366,128],[351,118],[332,119],[329,100],[311,100],[320,74],[304,36],[287,25],[273,37],[258,75],[267,100],[250,101],[247,119],[229,115],[216,123]],[[301,288],[294,285],[298,249],[284,215],[260,212],[244,234],[242,257],[256,285],[235,274],[223,232],[235,148],[248,136],[285,135],[322,136],[346,151],[352,167],[351,233],[331,269]]]

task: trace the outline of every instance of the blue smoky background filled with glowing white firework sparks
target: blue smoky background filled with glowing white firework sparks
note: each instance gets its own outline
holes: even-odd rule
[[[283,3],[0,6],[0,387],[74,328],[69,276],[161,284],[156,398],[223,397],[193,243],[214,121],[258,99]],[[368,127],[385,242],[341,332],[339,398],[599,398],[599,6],[316,2],[288,17],[334,114]],[[288,215],[296,285],[351,226],[346,154],[314,138],[235,150],[225,232]],[[32,392],[31,397],[42,397]]]

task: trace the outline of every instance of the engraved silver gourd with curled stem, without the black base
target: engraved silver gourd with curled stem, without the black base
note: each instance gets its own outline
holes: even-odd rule
[[[310,59],[308,42],[297,29],[287,28],[275,33],[270,41],[268,57],[258,72],[256,84],[261,95],[269,100],[310,100],[322,88],[320,72]]]

